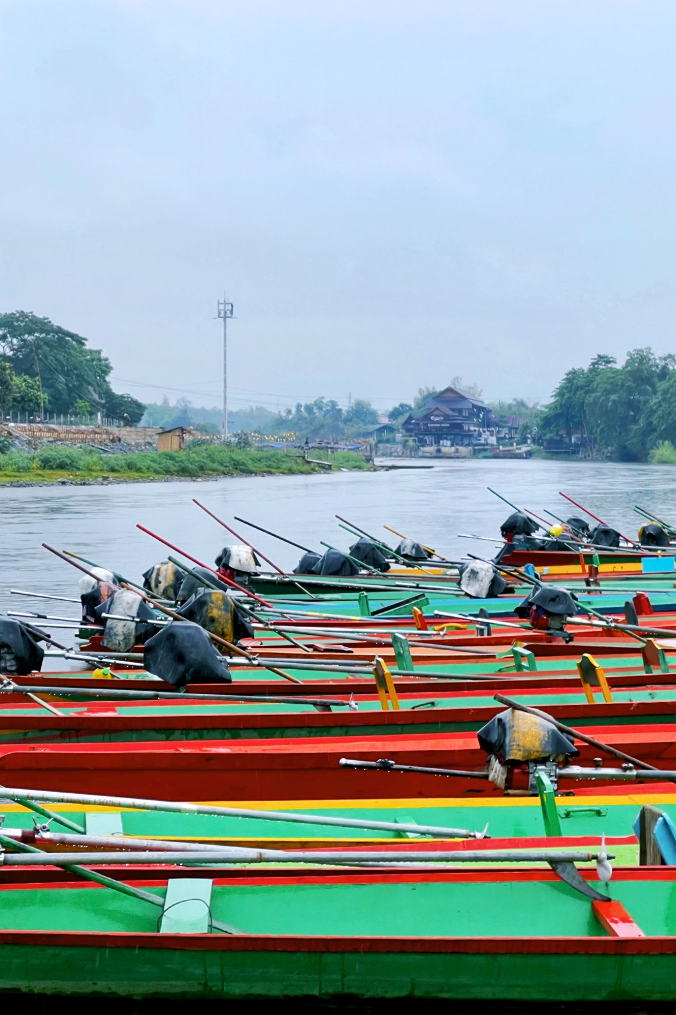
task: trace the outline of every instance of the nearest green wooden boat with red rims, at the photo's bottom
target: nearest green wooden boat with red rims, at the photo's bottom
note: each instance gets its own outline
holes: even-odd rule
[[[7,886],[0,888],[0,990],[325,1002],[589,1002],[618,994],[673,1001],[674,877],[666,869],[615,872],[611,895],[647,935],[627,938],[608,936],[590,900],[547,871],[221,877],[212,906],[216,919],[245,932],[232,936],[158,934],[154,906],[107,888]],[[161,893],[166,880],[142,884]],[[33,904],[17,904],[19,892]],[[8,926],[11,909],[18,919]]]

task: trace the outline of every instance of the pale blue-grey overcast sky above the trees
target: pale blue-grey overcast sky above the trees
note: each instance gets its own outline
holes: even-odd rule
[[[114,387],[547,399],[676,351],[676,4],[0,0],[0,310]],[[132,384],[136,382],[136,384]]]

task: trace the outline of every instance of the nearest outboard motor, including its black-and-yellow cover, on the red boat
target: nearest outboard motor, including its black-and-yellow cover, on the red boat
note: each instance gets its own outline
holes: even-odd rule
[[[545,767],[556,788],[556,768],[579,754],[573,736],[527,712],[508,708],[477,732],[489,755],[489,779],[506,794],[537,794],[535,771]]]

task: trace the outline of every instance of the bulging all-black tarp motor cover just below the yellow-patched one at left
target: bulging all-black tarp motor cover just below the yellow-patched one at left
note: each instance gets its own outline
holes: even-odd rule
[[[207,631],[186,620],[173,620],[146,641],[143,665],[174,687],[232,681],[227,663]]]

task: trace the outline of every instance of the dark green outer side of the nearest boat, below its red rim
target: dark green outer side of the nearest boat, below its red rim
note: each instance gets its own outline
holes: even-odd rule
[[[114,935],[100,943],[78,937],[81,944],[52,944],[49,935],[0,944],[0,991],[231,1001],[676,999],[672,939],[652,939],[650,948],[642,942],[637,951],[637,942],[612,938],[507,940],[479,950],[461,940],[337,939],[309,947],[280,940],[264,948],[256,938],[214,939],[217,947],[206,949],[169,940],[158,947],[140,935],[127,946]]]

